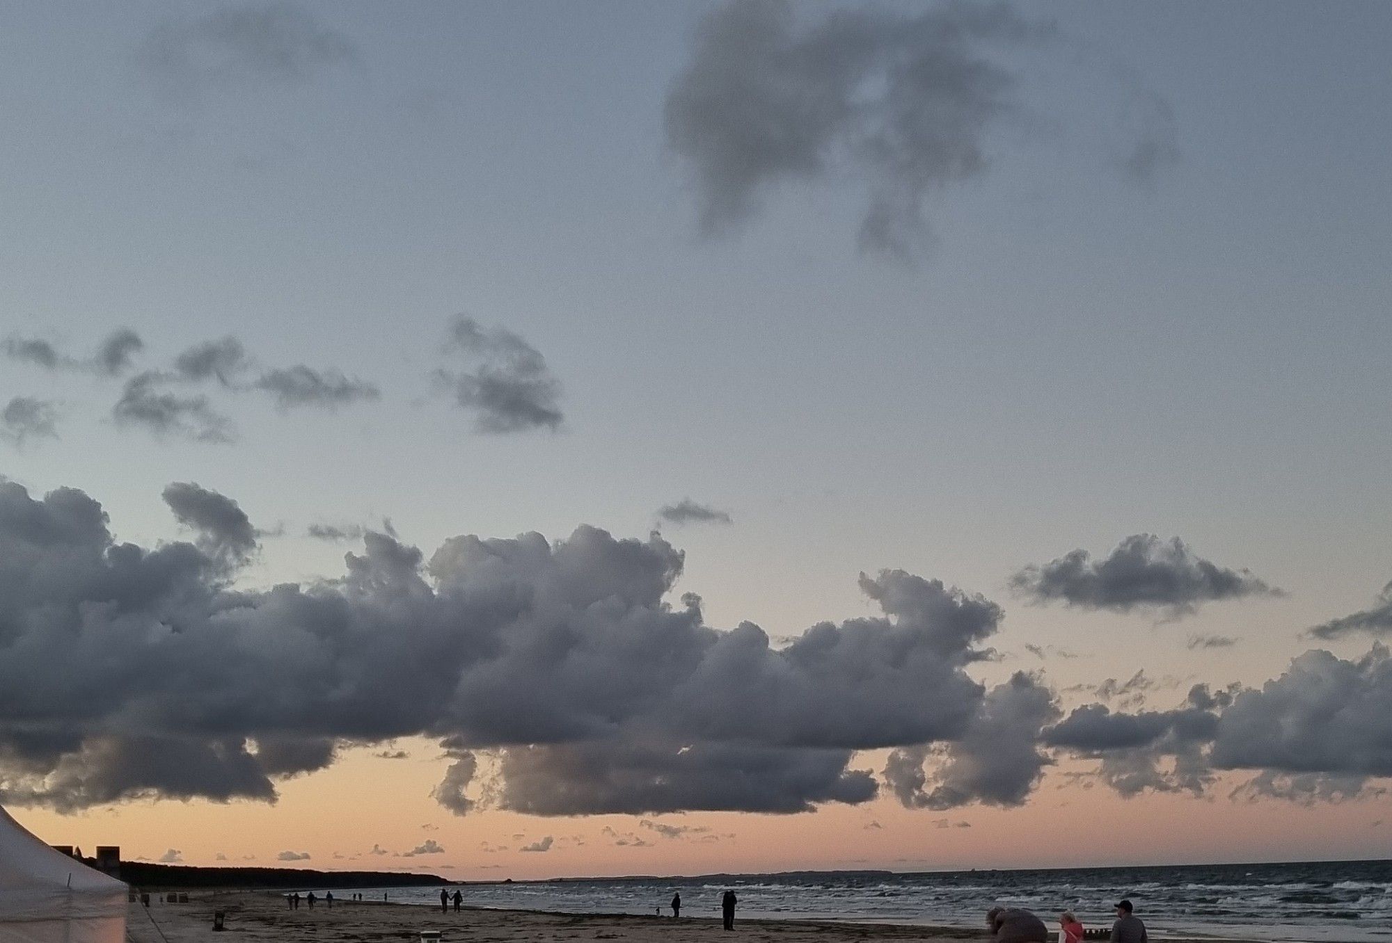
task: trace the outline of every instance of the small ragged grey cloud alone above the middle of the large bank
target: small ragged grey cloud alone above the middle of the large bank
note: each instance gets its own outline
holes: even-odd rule
[[[475,416],[480,433],[555,431],[565,420],[561,382],[540,350],[507,328],[483,328],[472,317],[450,324],[448,352],[469,370],[441,369],[436,378]]]

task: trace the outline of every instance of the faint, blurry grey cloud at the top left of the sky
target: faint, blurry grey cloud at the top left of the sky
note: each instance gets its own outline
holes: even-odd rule
[[[354,43],[294,3],[230,4],[192,19],[156,26],[141,61],[174,90],[256,79],[301,85],[315,72],[352,64]]]

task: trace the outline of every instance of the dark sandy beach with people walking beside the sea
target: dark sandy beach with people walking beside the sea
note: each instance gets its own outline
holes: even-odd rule
[[[224,933],[213,932],[214,911],[226,911]],[[153,919],[152,919],[153,918]],[[127,922],[135,943],[296,943],[319,940],[358,943],[419,940],[420,930],[440,930],[444,943],[551,943],[560,940],[633,940],[695,943],[727,937],[718,917],[539,914],[533,911],[469,910],[441,914],[408,904],[334,901],[290,910],[278,894],[260,892],[200,893],[188,904],[153,904],[149,914],[132,904]],[[161,937],[163,932],[163,937]],[[728,939],[759,943],[842,943],[845,940],[977,940],[986,933],[962,928],[821,924],[809,921],[739,921]]]

